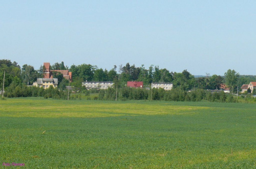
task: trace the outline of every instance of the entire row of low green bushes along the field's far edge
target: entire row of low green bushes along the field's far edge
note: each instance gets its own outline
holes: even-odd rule
[[[89,91],[88,91],[89,92]],[[88,96],[86,92],[85,94]],[[90,91],[91,93],[91,91]],[[95,93],[95,91],[93,92]],[[115,88],[109,88],[107,90],[97,91],[98,96],[92,98],[93,100],[164,100],[164,101],[201,101],[207,100],[210,102],[236,102],[237,99],[233,97],[232,94],[226,94],[222,92],[210,92],[205,90],[195,90],[191,92],[186,92],[180,89],[173,89],[170,91],[165,91],[161,88],[153,90],[146,89],[135,89],[135,88],[122,88],[116,90]],[[37,87],[27,87],[26,85],[15,85],[12,83],[5,91],[5,97],[44,97],[44,98],[54,98],[54,99],[67,99],[68,92],[60,91],[53,87],[49,89],[37,88]],[[70,99],[81,100],[81,95],[73,96]],[[91,97],[88,97],[91,99]],[[242,96],[239,98],[241,101],[245,102],[255,102],[256,98],[251,97],[250,94]]]

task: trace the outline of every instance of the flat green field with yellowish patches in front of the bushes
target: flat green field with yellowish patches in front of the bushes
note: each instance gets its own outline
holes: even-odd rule
[[[0,100],[0,149],[20,168],[255,168],[256,105]]]

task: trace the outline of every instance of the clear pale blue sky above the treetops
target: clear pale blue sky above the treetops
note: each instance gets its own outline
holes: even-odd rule
[[[0,59],[256,75],[256,1],[2,1]]]

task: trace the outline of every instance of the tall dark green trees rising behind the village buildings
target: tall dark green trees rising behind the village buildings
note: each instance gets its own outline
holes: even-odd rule
[[[117,68],[113,66],[111,70],[98,68],[90,64],[72,65],[70,68],[65,66],[63,62],[55,63],[51,66],[51,70],[67,70],[72,72],[71,86],[74,86],[76,91],[84,90],[81,86],[83,81],[114,81],[118,88],[124,88],[127,81],[143,81],[144,86],[150,86],[152,82],[171,82],[174,89],[182,91],[189,90],[216,90],[220,89],[221,83],[231,89],[231,92],[241,88],[243,84],[248,84],[250,81],[256,81],[254,75],[240,75],[234,70],[227,70],[224,76],[211,75],[203,77],[195,77],[187,70],[182,72],[172,72],[166,68],[159,68],[159,66],[151,65],[145,68],[144,65],[136,67],[126,63],[125,66],[120,65]],[[31,86],[37,78],[44,77],[45,68],[40,66],[35,69],[31,65],[23,65],[20,67],[16,62],[10,60],[0,60],[0,84],[3,89],[3,77],[5,73],[5,89],[19,86],[20,89],[24,85]],[[54,78],[58,78],[58,89],[64,91],[69,81],[63,79],[59,72],[53,72]],[[116,87],[116,86],[115,86]],[[249,91],[250,92],[250,91]],[[253,91],[251,91],[253,92]],[[256,93],[256,91],[254,91]]]

